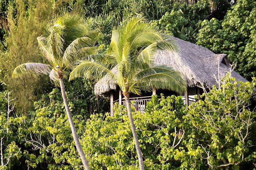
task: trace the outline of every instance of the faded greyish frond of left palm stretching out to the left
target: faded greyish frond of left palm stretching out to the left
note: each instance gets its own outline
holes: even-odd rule
[[[23,75],[38,76],[41,74],[49,74],[51,72],[51,67],[48,64],[43,63],[24,63],[17,66],[12,72],[12,77],[17,78]]]

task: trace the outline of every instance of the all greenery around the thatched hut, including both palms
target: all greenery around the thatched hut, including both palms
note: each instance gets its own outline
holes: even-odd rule
[[[255,16],[254,0],[0,0],[0,169],[256,169]],[[136,111],[130,93],[184,90],[152,63],[176,50],[168,36],[228,54],[249,82],[228,74],[188,110],[152,96]],[[128,107],[111,117],[94,85],[114,69]]]

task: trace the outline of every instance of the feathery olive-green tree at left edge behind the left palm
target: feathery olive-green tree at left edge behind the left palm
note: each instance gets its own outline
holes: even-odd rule
[[[3,40],[6,50],[0,52],[0,69],[3,71],[1,79],[7,84],[12,95],[16,98],[16,110],[28,113],[33,107],[33,102],[48,84],[45,77],[28,77],[12,79],[11,73],[16,66],[25,62],[43,62],[38,49],[36,38],[42,34],[45,22],[49,19],[50,4],[38,1],[26,6],[23,1],[16,1],[14,6],[8,8],[8,32]],[[17,9],[14,9],[17,8]],[[27,10],[30,11],[27,16]],[[13,11],[17,13],[13,13]],[[0,48],[1,49],[1,48]],[[51,91],[51,90],[50,90]],[[26,106],[26,107],[24,107]]]

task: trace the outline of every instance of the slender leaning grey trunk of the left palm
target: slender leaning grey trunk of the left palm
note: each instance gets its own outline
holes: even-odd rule
[[[77,147],[77,151],[80,155],[80,158],[82,159],[82,163],[83,163],[83,166],[85,167],[85,169],[90,170],[89,164],[88,164],[88,162],[86,160],[86,157],[85,157],[85,153],[83,152],[81,143],[80,143],[80,141],[78,139],[78,136],[77,136],[77,131],[76,131],[73,119],[72,119],[71,112],[69,110],[69,104],[68,104],[67,96],[65,94],[65,87],[64,87],[63,80],[59,79],[59,81],[60,81],[60,88],[61,88],[61,94],[62,94],[63,102],[64,102],[64,105],[65,105],[65,109],[67,111],[69,124],[70,124],[70,127],[71,127],[73,139],[74,139],[76,147]]]

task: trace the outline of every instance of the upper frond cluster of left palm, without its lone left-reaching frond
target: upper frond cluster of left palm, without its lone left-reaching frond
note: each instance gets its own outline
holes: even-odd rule
[[[72,67],[74,61],[96,53],[95,46],[99,29],[89,30],[86,20],[78,14],[64,14],[56,17],[40,38],[44,55],[46,50],[52,54],[51,65],[61,68]],[[46,41],[47,40],[47,41]]]

